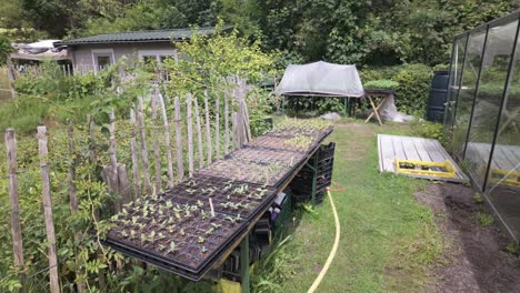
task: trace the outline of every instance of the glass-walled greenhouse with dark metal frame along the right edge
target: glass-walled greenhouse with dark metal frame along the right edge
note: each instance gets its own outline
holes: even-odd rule
[[[520,239],[520,11],[454,39],[444,130],[454,158]]]

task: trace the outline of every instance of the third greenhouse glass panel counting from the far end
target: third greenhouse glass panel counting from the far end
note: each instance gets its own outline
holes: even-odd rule
[[[510,22],[509,19],[503,19],[490,27],[488,33],[480,73],[480,87],[473,105],[473,117],[464,155],[469,163],[470,175],[481,190],[484,188],[483,183],[488,171],[491,144],[500,113],[517,27],[518,20]],[[492,164],[491,168],[497,166]]]

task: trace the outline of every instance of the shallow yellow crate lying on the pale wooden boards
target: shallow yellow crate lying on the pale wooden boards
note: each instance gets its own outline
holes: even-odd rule
[[[424,162],[413,160],[399,160],[396,159],[396,172],[401,174],[413,174],[423,176],[438,176],[438,178],[454,178],[457,171],[450,161],[444,162]],[[403,164],[410,168],[404,168]],[[433,168],[442,168],[446,171],[432,170]]]

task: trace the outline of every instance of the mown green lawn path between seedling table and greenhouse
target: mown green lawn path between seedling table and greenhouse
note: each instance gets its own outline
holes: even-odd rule
[[[333,180],[347,188],[333,192],[341,223],[336,259],[318,292],[418,292],[428,282],[429,266],[442,253],[432,212],[413,199],[426,182],[378,171],[377,133],[409,134],[407,125],[382,128],[342,123],[336,141]],[[292,233],[298,251],[293,276],[283,292],[306,292],[324,264],[334,238],[328,200],[316,213],[303,213]]]

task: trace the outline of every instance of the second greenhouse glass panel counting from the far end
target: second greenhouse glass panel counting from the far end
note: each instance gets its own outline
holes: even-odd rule
[[[463,158],[484,40],[486,27],[472,32],[468,40],[453,124],[452,151],[458,158]]]

